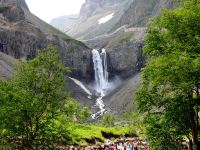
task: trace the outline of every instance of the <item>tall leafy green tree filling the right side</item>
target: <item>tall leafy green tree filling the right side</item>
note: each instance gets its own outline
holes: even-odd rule
[[[137,93],[152,149],[179,149],[187,137],[197,149],[200,91],[200,1],[165,10],[147,30],[148,63]]]

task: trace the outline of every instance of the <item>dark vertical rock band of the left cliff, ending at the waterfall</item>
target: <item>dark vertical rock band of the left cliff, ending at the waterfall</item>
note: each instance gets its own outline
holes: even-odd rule
[[[75,40],[63,40],[57,36],[47,39],[41,34],[39,37],[22,31],[0,30],[0,51],[14,58],[32,59],[36,50],[53,44],[60,51],[61,60],[71,68],[73,77],[90,79],[88,68],[90,66],[90,50],[82,43]]]

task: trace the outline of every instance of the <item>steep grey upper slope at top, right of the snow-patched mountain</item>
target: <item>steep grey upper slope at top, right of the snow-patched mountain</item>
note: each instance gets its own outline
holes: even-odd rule
[[[123,25],[145,27],[149,19],[157,16],[162,9],[173,9],[177,5],[174,0],[134,0],[112,31]]]

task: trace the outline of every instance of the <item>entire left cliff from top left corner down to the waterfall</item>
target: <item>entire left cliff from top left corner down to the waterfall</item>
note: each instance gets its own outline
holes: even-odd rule
[[[88,79],[90,49],[46,24],[29,11],[24,0],[0,1],[0,52],[14,58],[32,59],[35,51],[56,45],[74,77]]]

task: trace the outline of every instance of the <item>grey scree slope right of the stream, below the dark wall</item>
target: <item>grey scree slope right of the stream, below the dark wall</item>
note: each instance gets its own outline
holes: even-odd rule
[[[104,97],[103,101],[109,113],[119,117],[126,112],[132,112],[136,106],[133,104],[136,91],[141,84],[141,73],[123,81],[114,91]]]

